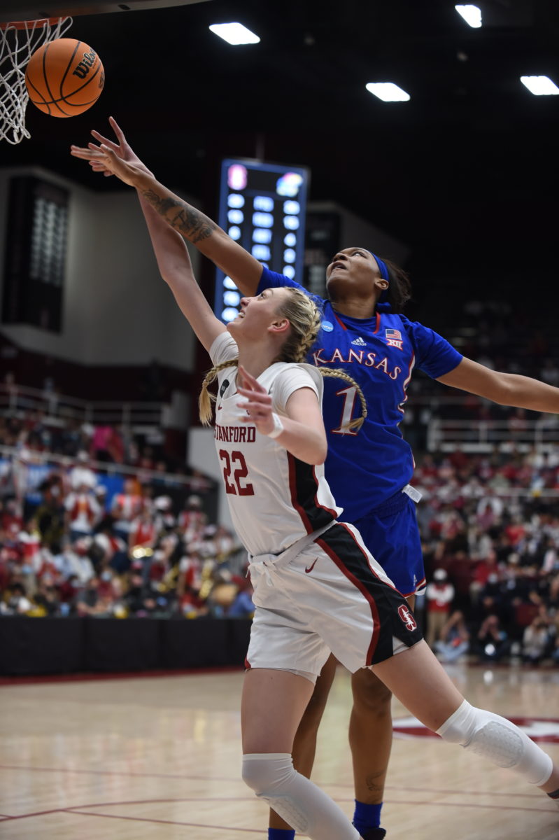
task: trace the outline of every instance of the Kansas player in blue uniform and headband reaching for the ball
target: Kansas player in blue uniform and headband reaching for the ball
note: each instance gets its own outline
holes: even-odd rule
[[[118,144],[101,134],[124,160],[138,163],[114,121]],[[106,171],[91,144],[90,163]],[[83,150],[74,152],[85,157]],[[212,219],[160,187],[145,196],[185,239],[232,277],[245,295],[265,288],[298,286],[264,268]],[[308,356],[314,365],[342,368],[363,390],[368,417],[358,435],[347,433],[356,410],[353,386],[328,384],[323,413],[327,429],[327,480],[343,519],[362,534],[371,554],[413,606],[425,586],[421,542],[415,517],[410,446],[400,432],[406,387],[415,368],[446,385],[503,405],[540,412],[559,412],[559,389],[520,375],[489,370],[462,357],[431,329],[410,322],[401,310],[410,297],[405,272],[366,248],[342,249],[327,267],[327,300],[316,298],[323,320]],[[313,297],[313,296],[311,296]],[[331,657],[300,722],[293,749],[295,767],[310,775],[316,731],[332,685],[336,662]],[[368,669],[352,676],[353,710],[350,744],[353,753],[355,812],[353,824],[364,840],[381,840],[380,810],[392,743],[391,694]],[[287,822],[272,815],[269,840],[292,840]]]

